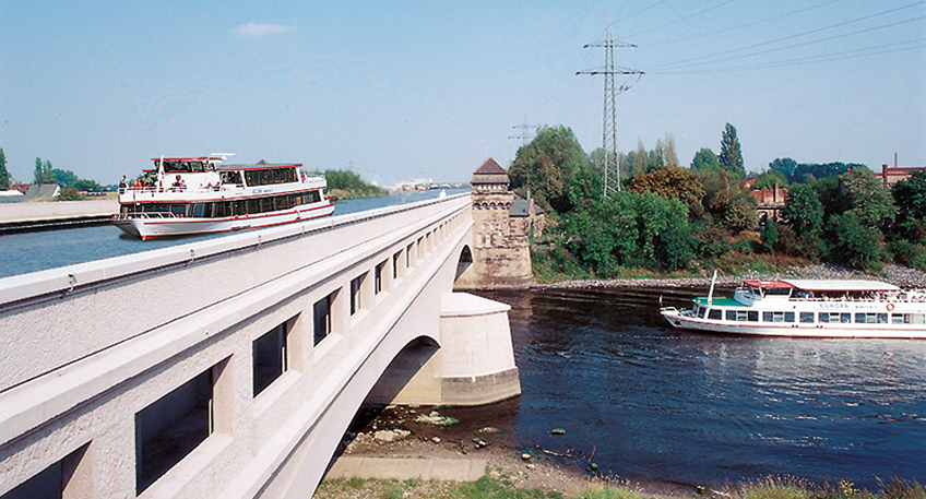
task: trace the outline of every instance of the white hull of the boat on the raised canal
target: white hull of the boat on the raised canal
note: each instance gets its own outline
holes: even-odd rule
[[[142,240],[193,236],[202,234],[230,233],[274,225],[304,222],[329,216],[334,204],[297,206],[293,210],[260,213],[224,218],[193,217],[117,217],[112,225]]]

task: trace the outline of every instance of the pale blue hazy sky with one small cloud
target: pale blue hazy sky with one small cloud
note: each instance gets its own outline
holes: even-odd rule
[[[618,148],[672,133],[688,166],[726,122],[749,170],[926,165],[926,1],[0,2],[0,147],[115,183],[161,155],[466,181],[513,161],[521,124]],[[515,136],[515,138],[512,138]]]

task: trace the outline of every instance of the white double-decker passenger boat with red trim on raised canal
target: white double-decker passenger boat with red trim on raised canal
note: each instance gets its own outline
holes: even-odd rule
[[[112,224],[142,240],[268,227],[331,215],[323,176],[300,164],[225,165],[225,155],[153,158],[119,186]]]

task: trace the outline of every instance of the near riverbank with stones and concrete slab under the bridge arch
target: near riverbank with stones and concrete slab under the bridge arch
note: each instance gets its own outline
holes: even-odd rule
[[[482,407],[368,411],[352,424],[337,460],[313,497],[370,497],[375,494],[372,490],[382,485],[370,479],[399,480],[413,489],[411,497],[442,497],[449,487],[448,478],[462,480],[464,478],[456,478],[456,475],[468,473],[468,470],[458,470],[456,475],[428,475],[431,468],[448,466],[448,463],[456,463],[458,468],[478,463],[494,480],[518,489],[539,489],[567,497],[603,487],[616,487],[650,499],[693,497],[707,491],[696,484],[630,480],[592,473],[589,470],[594,463],[593,451],[521,448],[510,430],[511,421],[507,420],[508,406],[517,406],[517,403],[515,400]],[[492,421],[498,421],[495,423],[498,426],[492,426]],[[349,463],[345,465],[339,461]]]

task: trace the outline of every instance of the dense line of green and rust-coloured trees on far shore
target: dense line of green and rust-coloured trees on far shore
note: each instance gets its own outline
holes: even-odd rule
[[[926,270],[926,171],[893,189],[865,165],[779,158],[747,175],[736,128],[720,153],[678,165],[675,141],[619,154],[621,190],[604,197],[601,148],[585,154],[572,130],[541,127],[509,168],[530,187],[548,226],[535,237],[539,278],[774,270],[807,261],[869,272],[897,262]],[[751,189],[788,189],[781,221],[760,221]],[[761,222],[761,223],[760,223]]]

